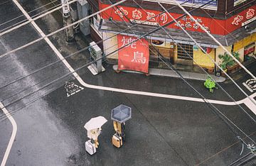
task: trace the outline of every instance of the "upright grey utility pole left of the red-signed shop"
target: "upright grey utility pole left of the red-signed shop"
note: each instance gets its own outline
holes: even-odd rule
[[[61,0],[61,4],[67,4],[67,0]],[[70,14],[70,6],[63,6],[63,26],[68,26],[72,23],[71,14]],[[74,32],[73,27],[65,29],[66,41],[68,43],[73,42],[74,40]]]

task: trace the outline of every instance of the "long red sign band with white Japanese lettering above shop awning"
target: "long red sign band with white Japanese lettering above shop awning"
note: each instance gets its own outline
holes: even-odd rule
[[[100,4],[100,9],[104,9],[107,6],[110,6],[108,4]],[[226,20],[221,19],[215,19],[215,18],[206,18],[201,16],[193,16],[196,18],[198,23],[201,23],[203,27],[205,27],[210,33],[216,34],[216,35],[227,35],[228,33],[231,33],[232,31],[235,31],[236,29],[242,27],[242,23],[245,23],[245,21],[249,21],[251,19],[255,19],[255,10],[256,6],[251,6],[248,9],[245,9],[244,11],[238,13],[237,15],[230,17]],[[169,23],[173,21],[168,13],[162,13],[159,16],[160,11],[153,11],[153,10],[144,10],[140,8],[132,8],[127,6],[118,6],[117,8],[108,9],[106,11],[103,11],[101,13],[102,18],[109,19],[110,17],[113,18],[115,21],[127,21],[127,18],[130,19],[130,21],[134,21],[137,23],[142,23],[143,21],[145,24],[149,25],[160,25],[163,26],[166,23]],[[179,13],[170,13],[171,16],[174,16],[174,18],[178,18],[182,14]],[[124,16],[125,15],[125,16]],[[152,18],[156,16],[155,18]],[[178,23],[183,28],[186,28],[188,31],[198,31],[198,32],[204,32],[189,16],[184,16],[180,20],[178,20]],[[172,23],[171,25],[167,26],[167,28],[178,28],[181,29],[176,23]]]

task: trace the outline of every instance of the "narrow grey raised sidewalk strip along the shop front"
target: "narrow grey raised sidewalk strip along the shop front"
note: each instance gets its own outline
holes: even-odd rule
[[[113,70],[117,70],[117,65],[113,65]],[[134,72],[134,71],[122,71],[122,72]],[[208,77],[207,74],[197,73],[197,72],[185,72],[179,71],[181,75],[185,79],[196,79],[196,80],[203,80],[205,81]],[[142,74],[142,72],[134,72],[138,74]],[[164,77],[179,77],[173,70],[164,70],[164,69],[156,69],[156,68],[149,68],[149,75],[157,75],[157,76],[164,76]],[[225,77],[216,77],[213,74],[210,74],[210,77],[213,77],[215,82],[224,82]]]

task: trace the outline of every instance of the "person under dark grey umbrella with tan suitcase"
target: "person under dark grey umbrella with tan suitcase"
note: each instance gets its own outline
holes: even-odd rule
[[[112,136],[112,144],[120,148],[122,141],[124,140],[124,122],[132,118],[132,109],[129,106],[123,104],[117,106],[111,111],[111,119],[113,120],[114,135]]]

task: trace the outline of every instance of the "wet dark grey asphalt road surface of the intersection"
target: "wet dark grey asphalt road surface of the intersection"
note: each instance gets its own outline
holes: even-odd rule
[[[26,11],[42,6],[39,1],[22,1],[21,5]],[[11,1],[0,6],[0,24],[20,15],[22,13]],[[49,33],[61,26],[61,23],[55,21],[58,18],[60,14],[56,13],[54,17],[48,16],[36,23],[45,33]],[[15,21],[11,22],[13,23]],[[0,26],[1,29],[5,27],[6,25]],[[59,33],[50,39],[64,56],[80,49],[79,39],[77,43],[68,45],[63,42],[65,38],[63,34]],[[39,35],[33,27],[25,26],[0,38],[0,53],[3,54],[36,38],[39,38]],[[55,60],[58,58],[44,41],[3,57],[0,61],[0,86],[3,87],[14,79]],[[87,52],[69,58],[68,62],[74,68],[84,65],[87,62]],[[105,67],[107,71],[95,77],[86,68],[78,73],[88,84],[198,97],[198,94],[180,79],[146,77],[144,74],[123,72],[117,74],[113,72],[111,65]],[[251,70],[256,74],[255,67]],[[14,113],[18,126],[6,165],[228,165],[240,157],[241,143],[225,123],[203,103],[87,88],[67,97],[63,84],[72,77],[62,79],[38,91],[48,82],[66,73],[68,70],[60,62],[31,77],[1,88],[1,102]],[[246,79],[247,75],[238,80],[238,83],[241,85]],[[73,82],[82,86],[75,80]],[[220,89],[210,94],[203,89],[203,82],[189,82],[205,94],[207,99],[231,101]],[[36,86],[33,86],[34,84]],[[236,100],[244,98],[240,92],[234,91],[233,84],[222,85]],[[29,87],[32,88],[28,89]],[[21,99],[33,92],[36,93]],[[39,99],[41,96],[43,97]],[[28,105],[33,100],[36,101]],[[11,104],[14,101],[15,104]],[[126,125],[127,140],[124,146],[116,149],[110,142],[114,133],[110,111],[119,104],[132,107],[132,119]],[[256,125],[238,106],[215,106],[255,140]],[[256,118],[247,107],[242,106],[253,118]],[[84,143],[87,135],[83,126],[90,118],[100,115],[105,116],[108,122],[102,127],[100,148],[95,155],[90,156],[85,153]],[[2,112],[0,116],[0,159],[2,159],[12,128]],[[245,137],[239,134],[242,138]],[[246,138],[245,140],[250,142]],[[248,150],[245,149],[243,154],[247,152]],[[253,163],[255,160],[247,165]]]

